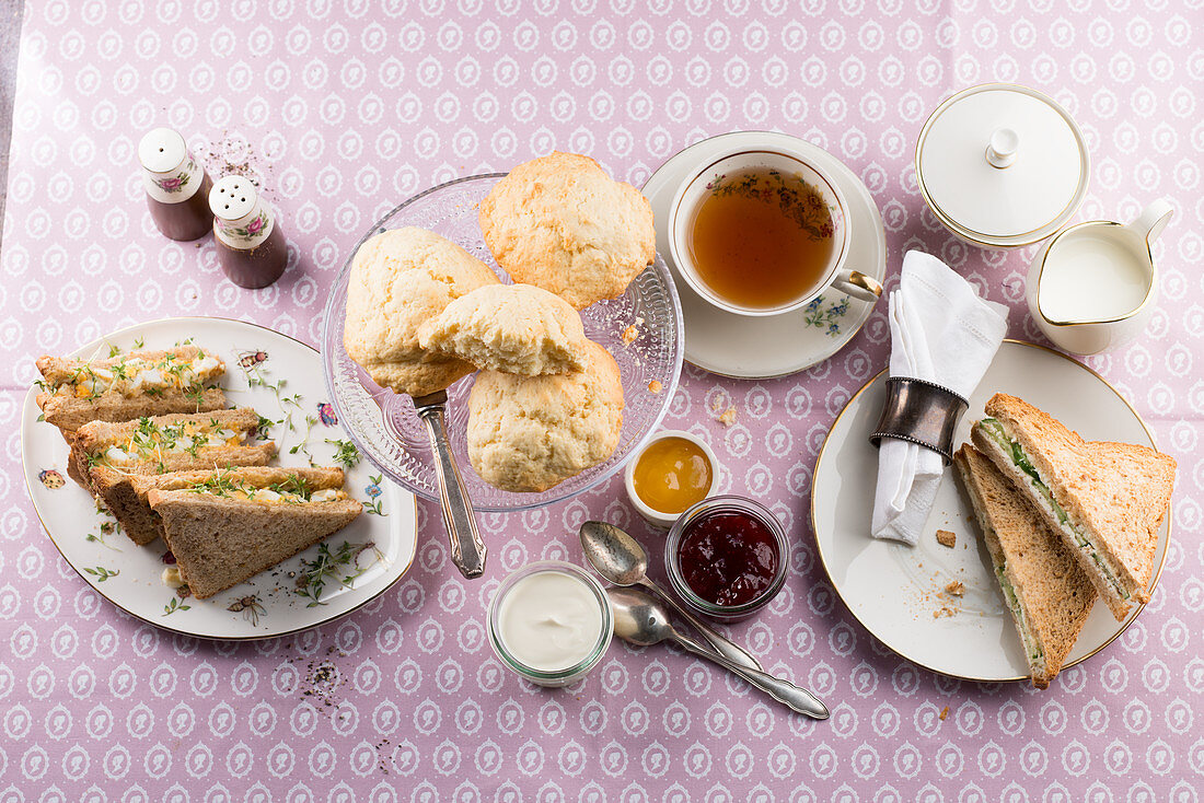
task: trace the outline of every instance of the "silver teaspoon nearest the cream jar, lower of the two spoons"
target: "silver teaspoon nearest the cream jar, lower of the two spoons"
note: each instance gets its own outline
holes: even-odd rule
[[[818,720],[828,718],[827,705],[805,689],[799,689],[783,678],[728,661],[677,632],[669,624],[665,607],[643,591],[610,588],[606,592],[614,610],[614,634],[622,640],[639,645],[659,644],[665,639],[677,642],[687,653],[714,661],[799,714]]]

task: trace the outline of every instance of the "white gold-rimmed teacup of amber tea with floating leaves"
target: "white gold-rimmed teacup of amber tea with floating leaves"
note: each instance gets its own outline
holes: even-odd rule
[[[669,207],[669,253],[712,305],[778,315],[826,290],[875,301],[872,277],[845,268],[850,228],[839,187],[802,154],[742,149],[692,171]]]

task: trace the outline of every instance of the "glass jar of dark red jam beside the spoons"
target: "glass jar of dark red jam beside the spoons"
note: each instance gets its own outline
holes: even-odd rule
[[[751,616],[786,583],[790,544],[778,518],[742,496],[713,496],[677,520],[665,568],[678,596],[721,621]]]

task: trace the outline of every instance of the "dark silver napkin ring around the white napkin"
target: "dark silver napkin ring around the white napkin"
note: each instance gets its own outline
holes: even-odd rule
[[[969,402],[949,388],[927,379],[891,377],[886,380],[886,403],[869,442],[883,438],[908,441],[954,461],[954,431]]]

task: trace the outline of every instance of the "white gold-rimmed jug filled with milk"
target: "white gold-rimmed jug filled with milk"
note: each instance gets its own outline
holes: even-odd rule
[[[1080,223],[1037,253],[1028,270],[1028,309],[1055,346],[1098,354],[1145,329],[1158,294],[1150,247],[1173,212],[1159,200],[1128,225]]]

